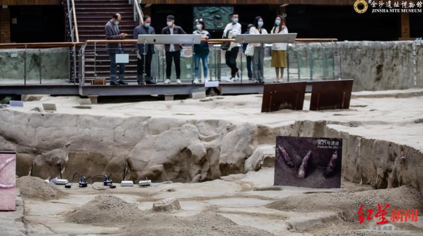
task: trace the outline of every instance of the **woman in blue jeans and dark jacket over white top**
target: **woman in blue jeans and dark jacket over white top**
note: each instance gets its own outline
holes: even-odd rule
[[[206,25],[203,19],[195,20],[195,28],[192,34],[201,35],[201,39],[210,39],[211,34],[206,30]],[[194,84],[198,84],[198,67],[200,66],[200,59],[203,61],[203,73],[204,79],[207,80],[207,74],[209,67],[207,66],[207,58],[209,56],[210,49],[208,42],[201,42],[200,44],[194,44],[194,73],[195,79]]]

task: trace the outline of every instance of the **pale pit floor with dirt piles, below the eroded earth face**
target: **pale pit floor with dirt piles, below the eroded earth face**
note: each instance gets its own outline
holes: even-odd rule
[[[311,189],[273,186],[273,177],[274,168],[263,168],[201,183],[165,182],[150,187],[116,184],[116,189],[104,191],[91,186],[56,186],[59,193],[65,193],[62,198],[23,196],[25,224],[21,231],[27,235],[118,236],[423,234],[421,220],[383,225],[401,227],[401,231],[378,230],[379,217],[360,224],[357,215],[360,205],[364,205],[364,212],[374,209],[374,215],[377,203],[386,202],[390,204],[385,216],[388,220],[393,207],[418,209],[421,217],[423,197],[414,188],[374,190],[343,180],[340,189]],[[96,183],[97,187],[101,184]],[[168,197],[177,197],[181,210],[151,210],[155,201]]]

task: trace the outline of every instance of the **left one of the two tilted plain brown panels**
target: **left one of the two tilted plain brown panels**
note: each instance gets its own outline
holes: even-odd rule
[[[265,84],[261,112],[302,110],[306,86],[307,82]]]

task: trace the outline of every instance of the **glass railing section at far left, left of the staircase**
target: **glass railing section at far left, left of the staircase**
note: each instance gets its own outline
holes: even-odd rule
[[[61,84],[69,82],[67,48],[0,51],[0,84]]]

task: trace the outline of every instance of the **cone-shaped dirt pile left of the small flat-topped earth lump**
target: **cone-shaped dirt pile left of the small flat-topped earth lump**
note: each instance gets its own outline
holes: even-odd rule
[[[141,217],[135,204],[111,195],[99,195],[67,215],[67,222],[107,225],[127,223]]]

